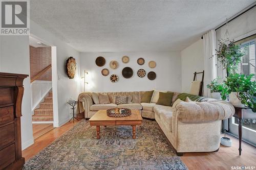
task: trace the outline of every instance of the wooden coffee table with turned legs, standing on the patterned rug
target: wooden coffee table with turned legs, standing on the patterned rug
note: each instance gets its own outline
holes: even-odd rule
[[[97,111],[90,119],[91,126],[96,126],[97,139],[100,138],[100,126],[132,126],[133,139],[136,138],[136,125],[141,125],[142,117],[139,110],[132,110],[132,114],[126,117],[110,117],[106,110]]]

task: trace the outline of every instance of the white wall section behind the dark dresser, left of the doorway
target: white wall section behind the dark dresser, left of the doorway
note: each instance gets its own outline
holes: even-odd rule
[[[29,66],[29,37],[28,36],[1,36],[1,72],[16,74],[30,74]],[[22,148],[31,145],[33,140],[31,118],[31,86],[30,77],[24,80],[24,95],[22,102]]]

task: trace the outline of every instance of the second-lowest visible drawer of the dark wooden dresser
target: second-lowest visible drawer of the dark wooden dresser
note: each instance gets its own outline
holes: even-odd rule
[[[0,128],[0,149],[3,147],[14,143],[15,141],[15,131],[14,123],[6,125]]]

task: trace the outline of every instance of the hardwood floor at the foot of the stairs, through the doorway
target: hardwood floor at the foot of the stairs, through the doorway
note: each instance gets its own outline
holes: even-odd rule
[[[34,139],[37,139],[53,129],[53,124],[32,124],[32,126]]]

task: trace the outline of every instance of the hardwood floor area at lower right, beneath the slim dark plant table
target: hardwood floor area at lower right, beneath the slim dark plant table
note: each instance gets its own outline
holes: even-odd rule
[[[188,169],[231,169],[231,166],[255,166],[256,148],[242,142],[242,155],[239,156],[239,140],[226,135],[232,139],[232,147],[221,145],[218,152],[212,153],[185,153],[182,161]]]

